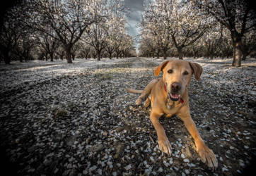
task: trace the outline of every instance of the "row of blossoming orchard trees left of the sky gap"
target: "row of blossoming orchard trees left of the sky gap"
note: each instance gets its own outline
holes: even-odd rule
[[[22,0],[11,8],[0,33],[0,57],[12,59],[136,54],[125,32],[122,0]]]

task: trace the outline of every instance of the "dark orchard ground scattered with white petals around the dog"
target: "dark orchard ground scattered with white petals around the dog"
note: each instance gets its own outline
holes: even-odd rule
[[[178,117],[161,118],[172,156],[158,150],[150,108],[136,106],[162,59],[0,65],[1,153],[18,175],[239,175],[256,156],[256,61],[187,59],[202,65],[190,84],[199,133],[219,161],[209,170]],[[4,160],[3,158],[1,160]],[[4,166],[5,166],[4,165]],[[2,165],[3,166],[3,165]]]

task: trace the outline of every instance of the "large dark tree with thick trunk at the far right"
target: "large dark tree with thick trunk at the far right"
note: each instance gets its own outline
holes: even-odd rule
[[[193,0],[194,3],[212,15],[231,33],[233,42],[233,63],[240,67],[242,56],[242,38],[256,27],[255,9],[246,0]]]

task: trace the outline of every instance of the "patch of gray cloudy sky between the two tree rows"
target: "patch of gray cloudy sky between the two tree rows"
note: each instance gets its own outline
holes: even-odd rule
[[[124,6],[129,8],[130,13],[127,15],[127,30],[132,37],[139,34],[139,28],[136,27],[137,23],[141,20],[141,13],[144,0],[124,0]]]

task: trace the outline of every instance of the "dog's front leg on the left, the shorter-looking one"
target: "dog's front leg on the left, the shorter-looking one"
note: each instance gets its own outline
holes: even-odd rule
[[[168,138],[166,137],[165,130],[163,129],[163,126],[159,122],[159,118],[161,117],[161,115],[163,115],[163,113],[157,113],[152,109],[150,114],[150,120],[153,124],[153,127],[155,127],[156,134],[158,136],[159,149],[170,156],[170,154],[172,153],[172,148],[170,146]]]

